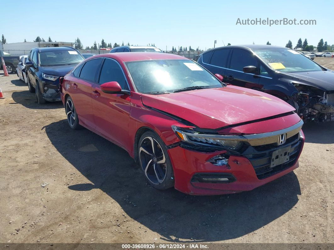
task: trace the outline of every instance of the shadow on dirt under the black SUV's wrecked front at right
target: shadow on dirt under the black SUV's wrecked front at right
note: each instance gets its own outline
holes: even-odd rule
[[[334,122],[307,122],[303,125],[306,143],[334,143]]]

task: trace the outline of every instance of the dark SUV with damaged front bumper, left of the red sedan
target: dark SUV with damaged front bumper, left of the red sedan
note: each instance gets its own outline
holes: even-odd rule
[[[32,48],[25,63],[28,87],[39,104],[61,101],[59,78],[85,60],[72,47]]]

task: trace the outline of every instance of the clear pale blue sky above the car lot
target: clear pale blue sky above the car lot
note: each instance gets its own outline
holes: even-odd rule
[[[285,46],[290,39],[320,38],[334,43],[334,9],[303,1],[11,1],[1,3],[1,33],[7,43],[33,41],[36,36],[54,41],[74,41],[91,46],[102,38],[114,44],[155,43],[162,50],[172,46],[201,49],[225,44]],[[328,6],[328,4],[325,4]],[[3,11],[4,10],[4,11]],[[8,10],[8,11],[6,11]],[[29,12],[29,15],[27,14]],[[326,13],[326,14],[325,14]],[[21,18],[22,17],[22,18]],[[317,25],[236,25],[237,19],[315,19]],[[223,42],[222,42],[223,41]]]

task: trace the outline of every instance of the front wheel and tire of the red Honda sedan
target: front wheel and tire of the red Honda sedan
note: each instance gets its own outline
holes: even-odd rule
[[[141,136],[138,160],[151,186],[160,190],[174,187],[173,166],[167,147],[156,133],[148,131]]]

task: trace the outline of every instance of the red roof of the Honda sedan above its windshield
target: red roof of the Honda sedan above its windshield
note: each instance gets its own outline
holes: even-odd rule
[[[110,57],[117,59],[119,61],[124,62],[132,62],[132,61],[144,61],[144,60],[167,60],[167,59],[177,59],[177,60],[189,60],[190,59],[180,56],[180,55],[174,55],[174,54],[168,54],[168,53],[157,53],[157,52],[136,52],[136,53],[129,53],[129,52],[119,52],[119,53],[107,53],[107,54],[101,54],[101,55],[95,55],[92,58],[97,57]]]

